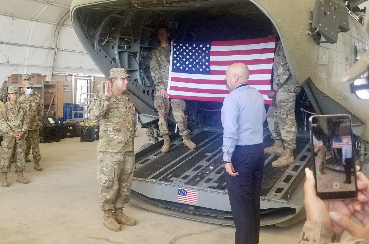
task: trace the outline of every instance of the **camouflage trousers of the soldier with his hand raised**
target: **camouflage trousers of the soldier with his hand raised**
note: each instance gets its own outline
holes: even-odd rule
[[[134,167],[133,151],[97,153],[97,181],[101,185],[101,211],[128,206]]]

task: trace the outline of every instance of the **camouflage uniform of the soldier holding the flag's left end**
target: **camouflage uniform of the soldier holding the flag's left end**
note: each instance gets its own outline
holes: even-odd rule
[[[152,50],[151,52],[151,76],[155,84],[154,106],[158,109],[160,135],[170,135],[168,130],[169,106],[172,106],[172,114],[179,128],[179,135],[186,136],[190,131],[187,129],[186,102],[182,99],[169,99],[161,97],[161,89],[168,89],[170,62],[170,46]]]

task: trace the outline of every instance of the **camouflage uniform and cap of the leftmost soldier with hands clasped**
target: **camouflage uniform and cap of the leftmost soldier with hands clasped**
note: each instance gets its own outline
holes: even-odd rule
[[[18,87],[9,87],[18,90]],[[25,153],[25,139],[24,136],[21,139],[13,137],[14,133],[24,132],[27,133],[28,129],[28,114],[27,109],[20,104],[11,104],[10,101],[0,108],[1,120],[0,130],[4,135],[3,142],[1,142],[1,151],[3,152],[3,158],[0,164],[1,172],[10,171],[10,160],[14,152],[17,170],[23,171],[25,168],[24,153]]]

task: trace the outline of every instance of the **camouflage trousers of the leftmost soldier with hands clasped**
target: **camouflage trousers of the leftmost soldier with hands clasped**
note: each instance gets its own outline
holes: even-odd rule
[[[0,163],[1,172],[9,172],[10,171],[10,163],[11,157],[14,153],[15,155],[15,169],[16,170],[24,170],[25,161],[24,161],[24,153],[25,153],[25,140],[24,139],[15,139],[15,138],[4,138],[3,142],[1,142],[1,151],[3,152],[3,158]]]

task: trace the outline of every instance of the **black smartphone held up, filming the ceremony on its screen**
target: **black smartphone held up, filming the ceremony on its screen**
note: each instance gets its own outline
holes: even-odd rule
[[[309,119],[315,189],[320,199],[358,195],[351,117],[314,115]]]

